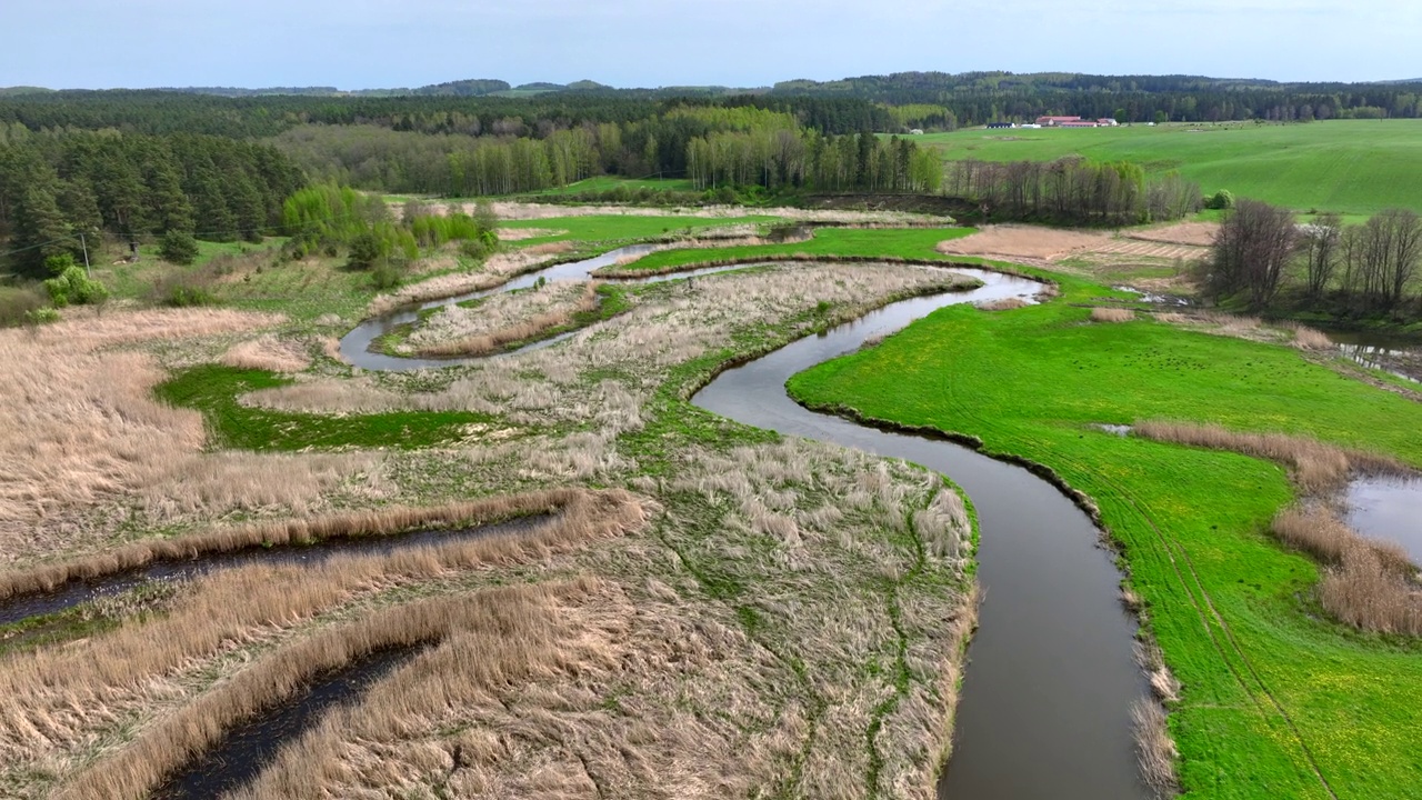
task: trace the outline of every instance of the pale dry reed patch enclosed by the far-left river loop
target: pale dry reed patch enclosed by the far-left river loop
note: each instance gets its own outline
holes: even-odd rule
[[[566,280],[536,290],[495,295],[475,307],[445,306],[397,346],[427,357],[483,356],[505,344],[567,326],[597,310],[597,283]]]

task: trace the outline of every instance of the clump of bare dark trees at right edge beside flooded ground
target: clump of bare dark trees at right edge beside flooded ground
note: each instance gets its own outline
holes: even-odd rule
[[[1415,317],[1422,305],[1422,218],[1388,209],[1362,225],[1320,214],[1300,225],[1293,212],[1241,199],[1226,212],[1203,265],[1214,298],[1241,296],[1274,306],[1285,293],[1347,315]]]

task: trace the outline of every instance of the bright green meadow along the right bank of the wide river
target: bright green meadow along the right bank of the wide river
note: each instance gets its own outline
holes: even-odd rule
[[[1337,797],[1415,797],[1422,645],[1322,618],[1311,594],[1318,567],[1266,534],[1294,497],[1284,471],[1091,426],[1194,420],[1308,434],[1422,465],[1422,407],[1288,347],[1145,319],[1091,323],[1078,303],[1121,295],[1055,278],[1059,300],[1000,313],[943,309],[873,350],[796,376],[791,391],[813,406],[981,437],[987,450],[1042,463],[1098,501],[1185,685],[1170,727],[1187,797],[1330,797],[1304,744]]]

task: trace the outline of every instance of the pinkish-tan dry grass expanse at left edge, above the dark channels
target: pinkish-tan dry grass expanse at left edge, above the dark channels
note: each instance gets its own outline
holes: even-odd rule
[[[0,558],[64,547],[71,520],[199,458],[202,416],[158,403],[128,344],[237,333],[277,317],[216,309],[74,313],[0,330]]]

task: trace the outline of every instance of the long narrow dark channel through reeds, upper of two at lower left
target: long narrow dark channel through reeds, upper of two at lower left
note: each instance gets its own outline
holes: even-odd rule
[[[90,581],[68,581],[51,592],[16,595],[0,601],[0,625],[20,622],[41,614],[54,614],[92,601],[132,589],[148,581],[185,581],[252,564],[300,564],[316,565],[337,555],[388,555],[400,549],[437,545],[461,538],[482,538],[499,534],[525,532],[546,522],[547,514],[520,517],[508,522],[459,530],[428,530],[408,534],[378,537],[341,537],[311,544],[277,547],[247,547],[228,552],[203,554],[198,558],[152,561],[137,569],[114,572]]]

